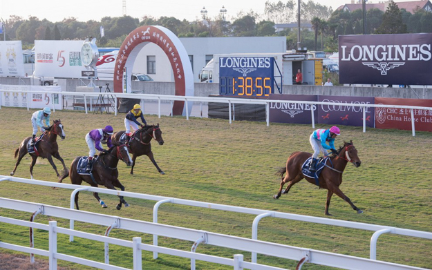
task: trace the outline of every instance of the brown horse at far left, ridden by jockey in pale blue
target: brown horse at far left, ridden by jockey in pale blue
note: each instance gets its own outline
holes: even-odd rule
[[[32,157],[32,164],[30,164],[30,177],[33,179],[33,166],[35,166],[37,157],[46,158],[48,162],[50,162],[51,166],[53,166],[55,173],[57,174],[57,177],[60,177],[59,172],[57,171],[57,167],[55,166],[53,162],[53,157],[57,158],[60,162],[62,162],[64,171],[67,171],[66,165],[64,164],[64,161],[62,157],[60,157],[59,154],[59,145],[57,144],[57,135],[59,135],[62,139],[66,137],[66,134],[64,133],[64,126],[60,119],[54,120],[54,124],[51,125],[48,128],[48,131],[45,132],[44,137],[42,137],[41,141],[37,144],[37,151],[39,152],[39,155],[36,153],[30,153],[30,157]],[[27,144],[28,141],[32,137],[26,137],[21,144],[19,145],[19,148],[15,150],[15,158],[18,157],[17,163],[15,163],[15,168],[10,173],[10,175],[14,175],[15,171],[17,171],[17,167],[19,165],[19,162],[21,162],[21,159],[28,153],[27,151]]]

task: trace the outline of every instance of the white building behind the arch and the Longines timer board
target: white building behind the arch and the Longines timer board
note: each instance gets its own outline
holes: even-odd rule
[[[216,54],[286,52],[285,37],[185,37],[185,46],[198,82],[200,70]],[[133,73],[145,73],[155,81],[174,81],[173,70],[165,52],[155,44],[147,44],[135,59]]]

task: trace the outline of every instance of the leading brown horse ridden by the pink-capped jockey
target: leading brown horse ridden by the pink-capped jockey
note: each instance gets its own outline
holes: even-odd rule
[[[276,173],[277,175],[280,175],[282,177],[282,180],[281,188],[279,189],[279,192],[273,196],[274,199],[279,199],[279,197],[281,197],[283,185],[285,183],[289,182],[285,191],[283,191],[284,194],[288,193],[288,191],[290,191],[291,189],[291,186],[293,186],[297,182],[300,182],[300,180],[302,180],[303,178],[306,178],[306,180],[308,180],[308,182],[310,182],[311,184],[315,184],[314,179],[310,177],[305,177],[303,173],[301,173],[301,165],[306,162],[306,160],[308,160],[308,158],[311,156],[311,153],[294,152],[290,155],[290,157],[288,157],[285,168],[279,169],[279,171]],[[340,184],[342,184],[342,173],[344,172],[348,161],[352,162],[356,167],[359,167],[361,164],[361,161],[357,155],[357,149],[353,145],[353,141],[344,142],[344,146],[341,146],[341,148],[339,148],[339,150],[337,151],[337,155],[330,157],[330,160],[332,166],[324,167],[321,175],[319,175],[319,187],[328,190],[326,215],[330,215],[330,213],[328,213],[328,207],[330,206],[330,200],[333,193],[348,202],[348,204],[350,204],[350,206],[353,207],[353,209],[357,211],[357,213],[363,213],[363,211],[358,209],[357,206],[355,206],[353,202],[351,202],[350,198],[348,198],[339,189]],[[287,173],[285,177],[283,177],[284,173]]]

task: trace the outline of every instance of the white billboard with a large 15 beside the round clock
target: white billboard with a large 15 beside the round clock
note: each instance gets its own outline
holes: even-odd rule
[[[80,40],[35,40],[35,76],[81,78]]]

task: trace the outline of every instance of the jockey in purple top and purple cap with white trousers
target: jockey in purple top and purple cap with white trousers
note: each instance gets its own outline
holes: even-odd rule
[[[111,135],[113,135],[114,130],[112,126],[105,126],[105,128],[97,128],[93,129],[93,131],[90,131],[86,134],[86,142],[88,145],[88,148],[90,151],[88,152],[88,164],[87,164],[87,170],[90,171],[91,169],[91,163],[93,160],[93,156],[96,153],[96,149],[99,150],[101,153],[105,153],[106,150],[102,148],[101,141],[106,140],[106,145],[108,147],[113,147],[113,144],[111,143]]]

